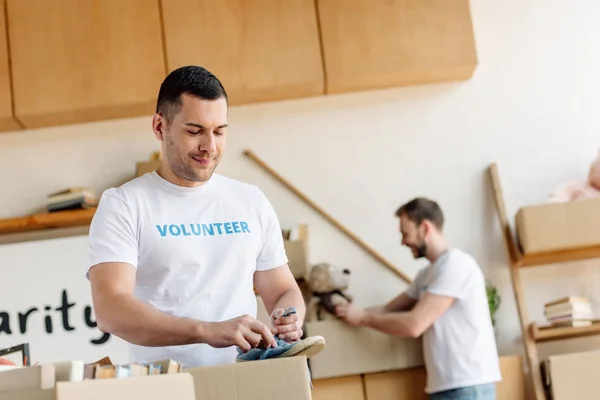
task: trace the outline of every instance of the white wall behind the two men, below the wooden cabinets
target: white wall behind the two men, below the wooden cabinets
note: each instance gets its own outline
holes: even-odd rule
[[[472,12],[480,59],[472,80],[233,108],[219,172],[258,184],[284,226],[308,222],[311,261],[351,269],[351,293],[363,305],[406,286],[242,151],[255,151],[410,276],[423,262],[399,246],[393,212],[413,196],[439,200],[451,242],[500,286],[501,352],[521,352],[485,169],[498,162],[510,215],[585,177],[600,147],[600,3],[473,0]],[[3,134],[0,186],[10,194],[0,198],[0,217],[33,212],[68,186],[117,185],[156,149],[150,117]],[[58,247],[43,250],[59,259],[50,257]],[[12,261],[0,263],[3,281],[19,263]],[[542,303],[571,290],[598,301],[598,262],[579,264],[525,271],[532,318],[541,320]]]

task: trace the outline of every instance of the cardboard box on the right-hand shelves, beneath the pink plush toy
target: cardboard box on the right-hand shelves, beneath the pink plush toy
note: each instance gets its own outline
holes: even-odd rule
[[[521,208],[516,232],[523,254],[600,245],[600,198]]]

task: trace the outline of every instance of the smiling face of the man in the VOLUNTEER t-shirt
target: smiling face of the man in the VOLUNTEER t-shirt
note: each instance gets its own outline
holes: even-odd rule
[[[226,144],[227,101],[181,96],[170,126],[163,123],[164,157],[171,171],[191,185],[210,179]]]

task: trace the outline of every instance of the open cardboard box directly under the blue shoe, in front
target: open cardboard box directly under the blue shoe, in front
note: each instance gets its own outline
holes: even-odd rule
[[[197,400],[311,400],[305,356],[186,368],[184,372],[194,378]]]

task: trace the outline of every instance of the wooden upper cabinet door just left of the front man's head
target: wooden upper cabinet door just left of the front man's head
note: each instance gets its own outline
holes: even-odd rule
[[[158,1],[6,0],[27,128],[148,115],[166,74]]]

